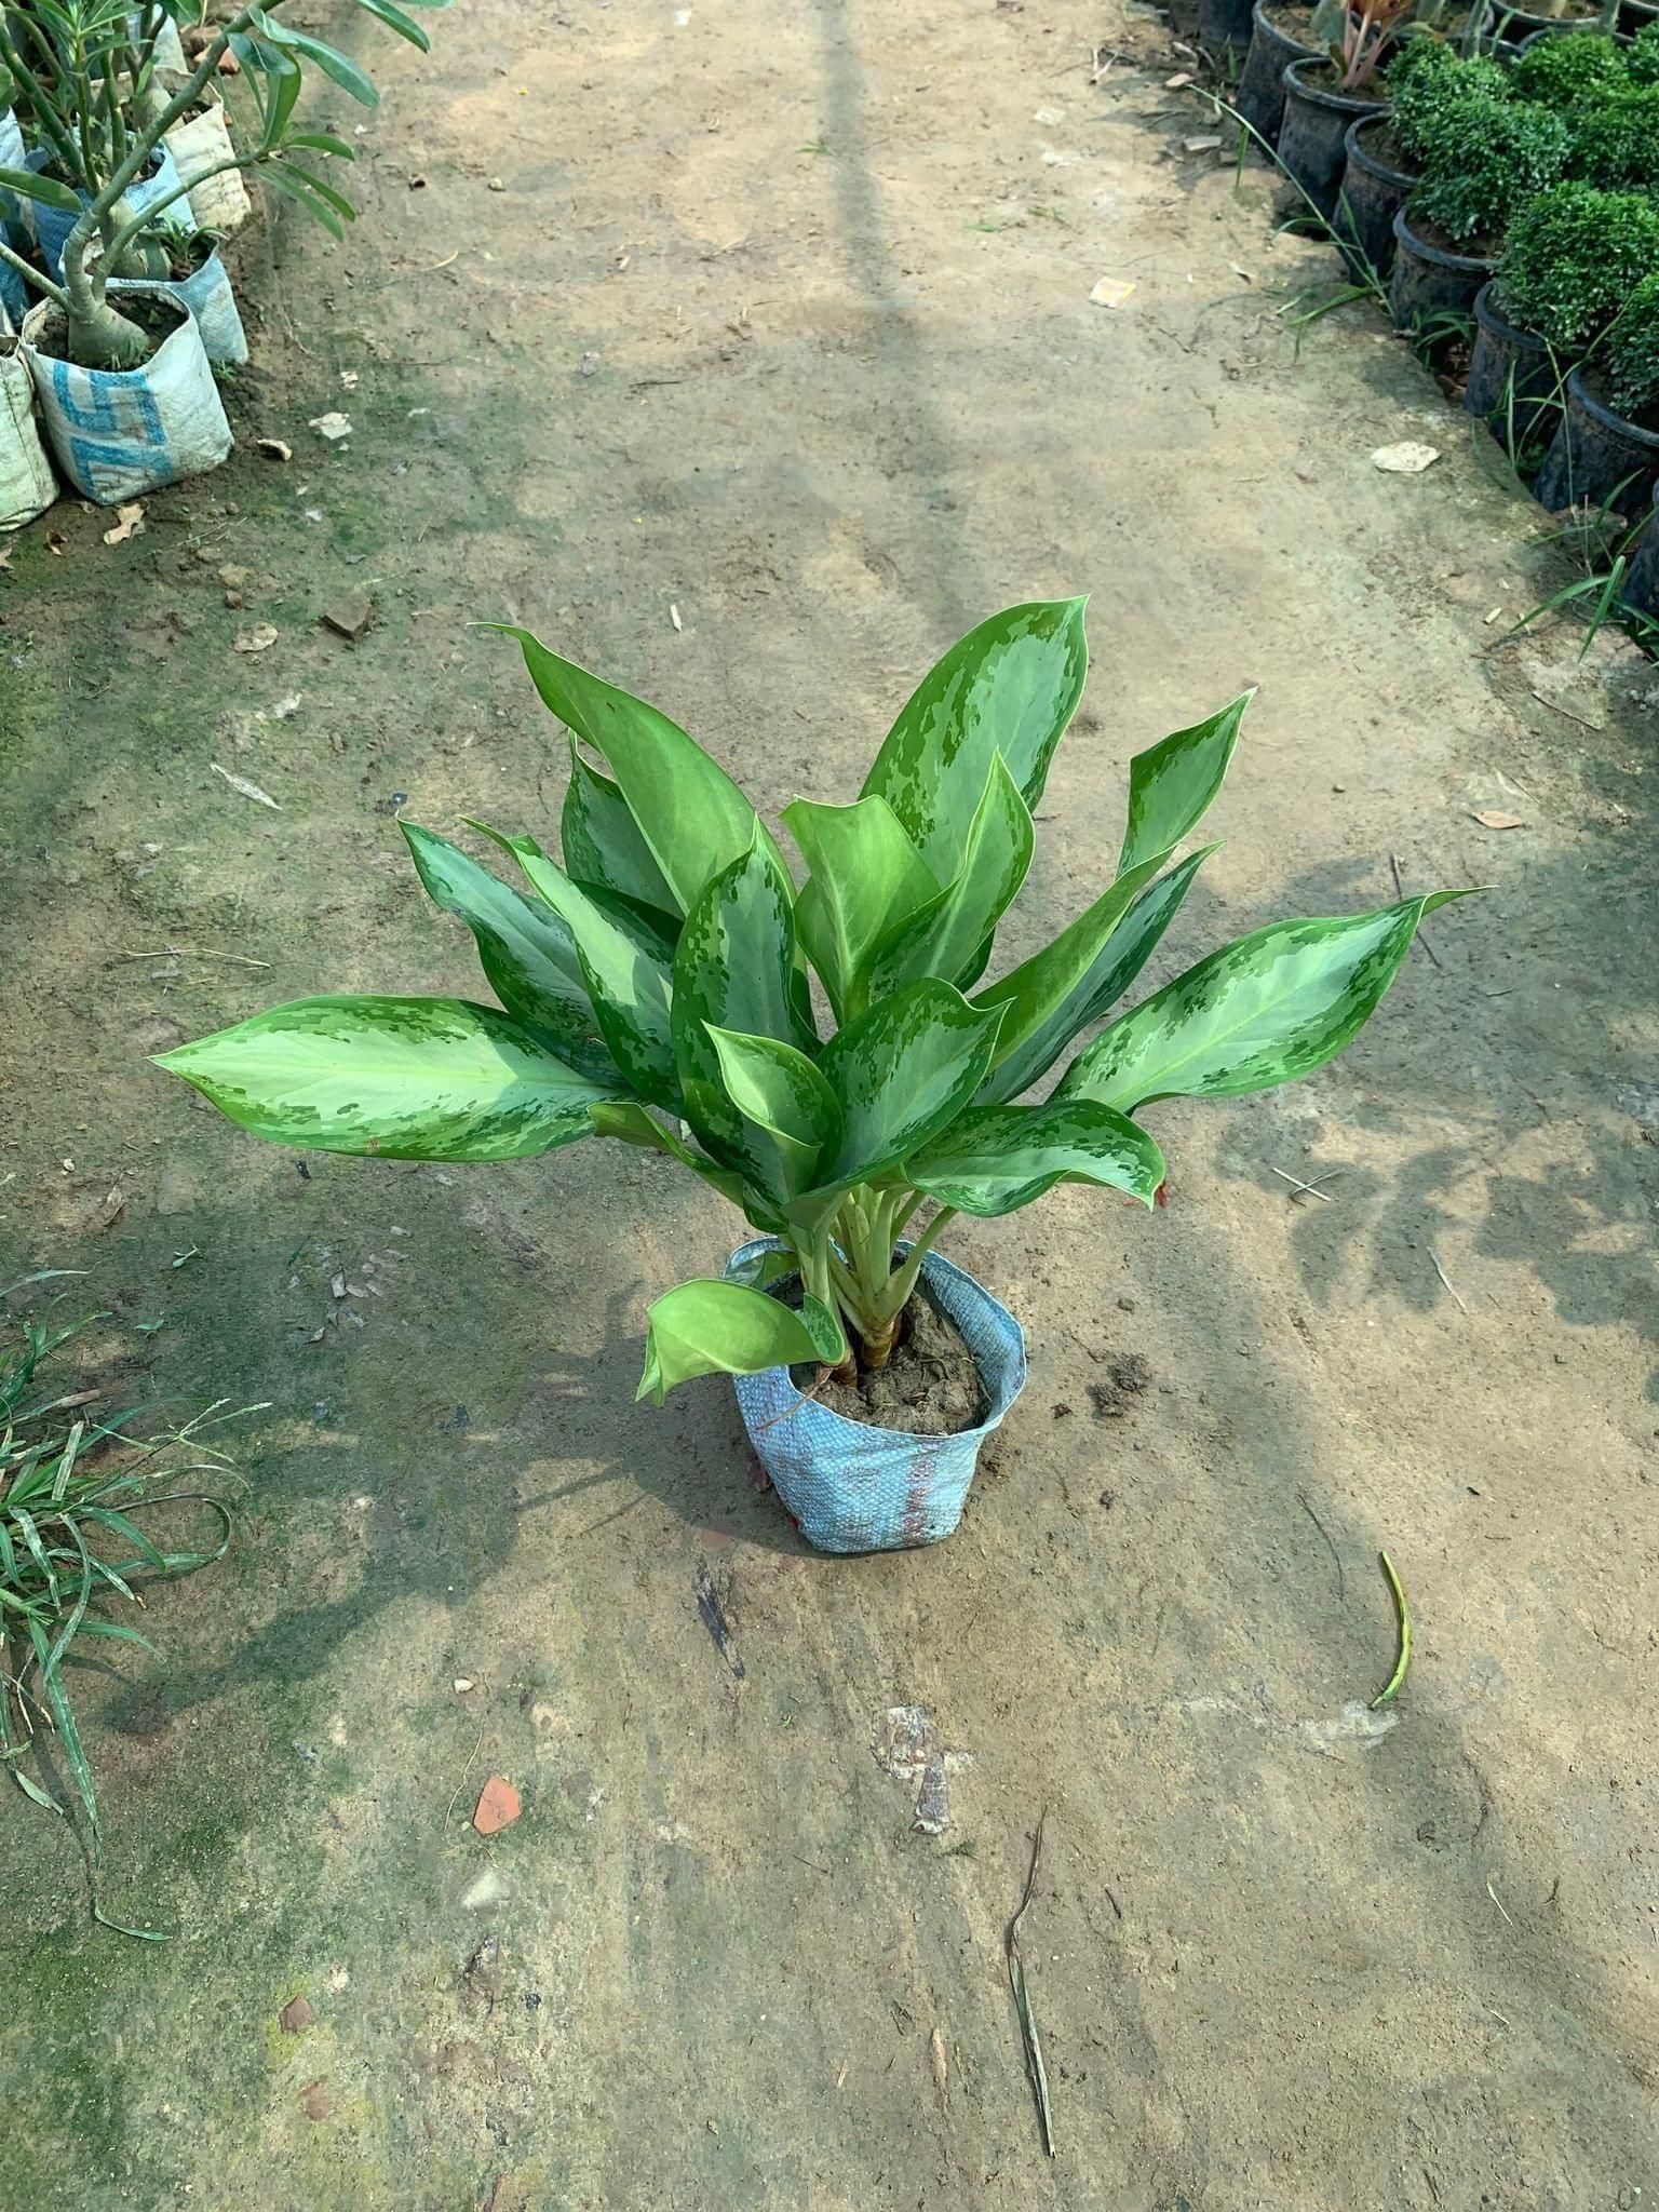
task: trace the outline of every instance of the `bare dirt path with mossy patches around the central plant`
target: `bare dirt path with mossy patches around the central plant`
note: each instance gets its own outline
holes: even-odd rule
[[[246,243],[232,465],[0,573],[0,1279],[86,1267],[153,1391],[272,1400],[230,1559],[77,1677],[108,1905],[173,1940],[93,1927],[4,1798],[0,2194],[1652,2201],[1659,672],[1495,644],[1564,573],[1535,509],[1363,310],[1296,358],[1327,257],[1170,153],[1203,119],[1144,11],[429,20],[429,62],[352,33],[387,100],[347,243]],[[1374,469],[1402,438],[1444,458]],[[1128,754],[1248,681],[1159,978],[1383,902],[1391,854],[1491,889],[1316,1079],[1157,1108],[1166,1212],[960,1223],[1031,1387],[953,1542],[812,1557],[728,1387],[633,1405],[644,1301],[737,1230],[666,1166],[296,1161],[146,1064],[473,989],[396,816],[551,834],[562,737],[469,624],[657,699],[770,812],[852,796],[945,644],[1068,591],[1093,679],[1011,953],[1099,885]],[[1385,1717],[1378,1546],[1418,1626]],[[872,1756],[909,1703],[971,1754],[938,1838]],[[484,1843],[489,1774],[524,1812]],[[1002,1955],[1044,1809],[1053,2161]]]

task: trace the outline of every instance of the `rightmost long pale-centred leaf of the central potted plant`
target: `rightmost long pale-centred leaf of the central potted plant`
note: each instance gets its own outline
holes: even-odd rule
[[[1055,1097],[1135,1113],[1166,1097],[1239,1097],[1323,1066],[1394,982],[1418,922],[1467,891],[1340,920],[1272,922],[1199,960],[1073,1060]]]

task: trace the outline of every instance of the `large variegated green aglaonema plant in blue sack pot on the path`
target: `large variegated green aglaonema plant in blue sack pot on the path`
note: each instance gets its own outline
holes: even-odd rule
[[[1033,1099],[1139,975],[1214,849],[1177,858],[1221,787],[1245,699],[1135,757],[1113,883],[987,984],[1084,684],[1079,599],[980,624],[900,710],[856,801],[783,810],[801,885],[726,770],[666,714],[511,635],[571,730],[564,865],[498,836],[524,898],[407,830],[500,1009],[307,998],[159,1064],[241,1128],[303,1148],[487,1161],[599,1135],[672,1157],[754,1237],[723,1276],[650,1305],[641,1396],[737,1376],[761,1460],[825,1551],[949,1535],[1020,1387],[1022,1338],[945,1265],[942,1234],[1060,1181],[1150,1206],[1164,1155],[1137,1115],[1321,1066],[1449,894],[1259,929],[1099,1031]],[[951,1369],[947,1409],[929,1363]],[[907,1418],[880,1427],[889,1407]]]

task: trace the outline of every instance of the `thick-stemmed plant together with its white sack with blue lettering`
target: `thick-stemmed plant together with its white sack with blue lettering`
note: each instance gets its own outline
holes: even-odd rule
[[[396,0],[358,4],[422,51],[429,46]],[[378,95],[347,55],[283,24],[281,7],[283,0],[265,0],[232,15],[170,97],[155,86],[153,20],[159,11],[144,11],[150,46],[135,60],[119,15],[102,51],[80,35],[64,51],[33,13],[0,9],[0,64],[13,75],[44,142],[44,166],[0,168],[0,188],[33,201],[38,221],[66,221],[62,279],[44,276],[4,243],[0,259],[44,292],[24,319],[24,352],[58,462],[93,500],[133,498],[217,467],[230,451],[230,425],[195,316],[177,290],[155,285],[170,281],[161,226],[186,201],[186,186],[175,173],[173,184],[161,179],[161,190],[142,195],[142,204],[133,197],[161,161],[168,131],[199,106],[226,53],[234,53],[250,84],[259,133],[248,153],[232,148],[221,170],[261,168],[336,237],[354,217],[345,195],[299,159],[352,159],[352,148],[332,133],[299,128],[303,62],[314,62],[365,106]],[[131,88],[126,102],[122,86]],[[93,142],[82,124],[91,113],[102,135],[88,153]],[[199,179],[217,173],[208,168]],[[188,221],[184,210],[175,219]],[[111,283],[131,288],[111,299]]]

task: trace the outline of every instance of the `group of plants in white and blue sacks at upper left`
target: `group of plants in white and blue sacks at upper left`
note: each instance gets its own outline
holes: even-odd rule
[[[75,15],[0,0],[0,529],[55,495],[42,425],[64,478],[102,504],[230,453],[215,367],[243,363],[248,341],[217,248],[250,210],[243,175],[343,237],[354,208],[319,157],[352,146],[303,126],[305,64],[378,100],[345,53],[281,22],[283,4],[206,29],[201,0]],[[427,49],[396,0],[358,4]]]

